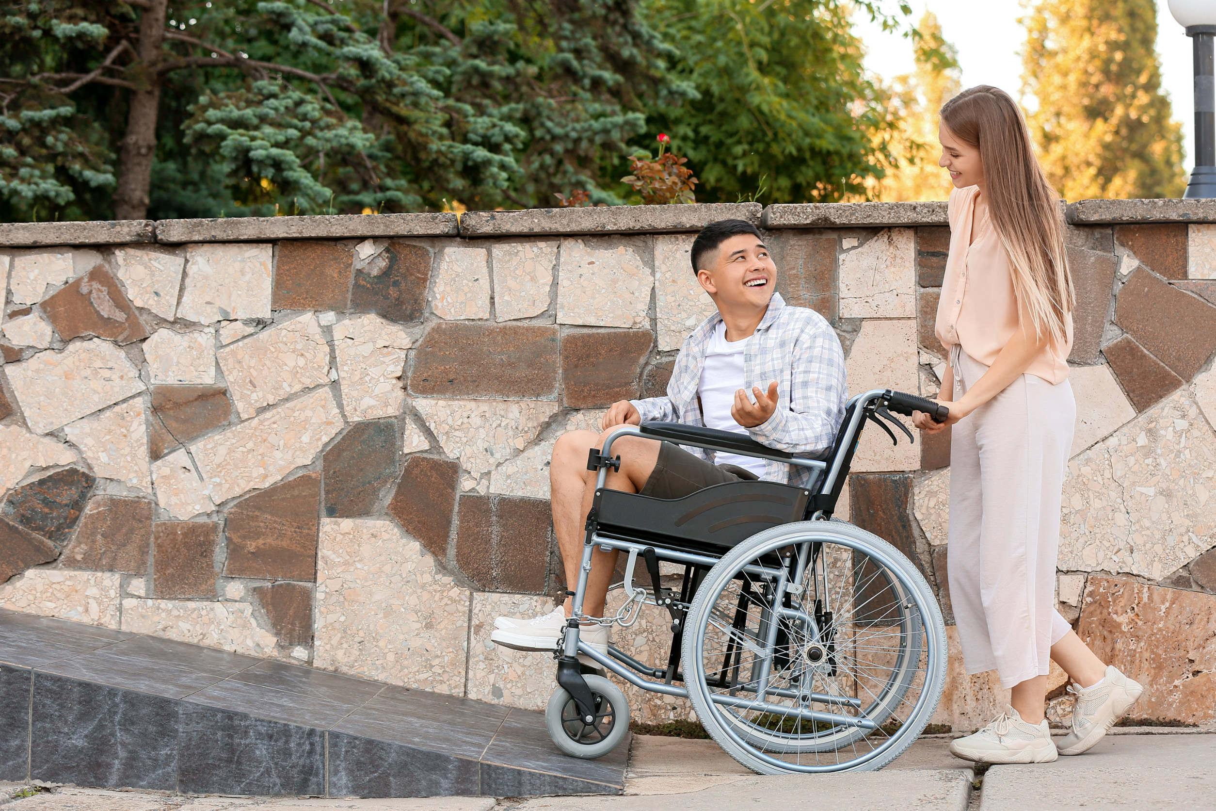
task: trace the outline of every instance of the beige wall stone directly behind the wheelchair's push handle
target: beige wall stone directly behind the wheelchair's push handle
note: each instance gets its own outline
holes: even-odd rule
[[[845,373],[849,378],[850,395],[871,389],[917,392],[919,372],[916,321],[911,319],[863,321],[861,332],[852,343],[849,360],[845,361]],[[899,415],[895,415],[895,418],[907,426],[913,437],[917,434],[910,418]],[[908,443],[907,437],[894,426],[890,428],[900,440],[895,447],[882,428],[874,424],[866,427],[850,469],[857,473],[919,469],[921,445]]]

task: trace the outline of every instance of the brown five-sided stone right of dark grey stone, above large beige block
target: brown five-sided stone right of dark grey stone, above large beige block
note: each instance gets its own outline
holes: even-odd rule
[[[440,561],[447,559],[447,536],[456,508],[456,462],[411,456],[396,483],[388,511],[410,535]]]

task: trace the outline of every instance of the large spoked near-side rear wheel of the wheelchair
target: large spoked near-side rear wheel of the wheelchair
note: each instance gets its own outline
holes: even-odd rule
[[[784,524],[743,541],[700,584],[686,627],[698,717],[760,773],[882,768],[941,697],[946,630],[933,591],[852,524]]]

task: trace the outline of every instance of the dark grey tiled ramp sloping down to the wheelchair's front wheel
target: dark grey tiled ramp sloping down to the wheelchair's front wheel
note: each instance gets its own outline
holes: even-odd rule
[[[627,742],[561,754],[544,717],[0,610],[0,781],[182,794],[618,794]]]

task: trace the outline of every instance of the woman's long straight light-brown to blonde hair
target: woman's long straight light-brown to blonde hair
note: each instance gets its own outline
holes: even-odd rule
[[[989,216],[1013,266],[1013,292],[1035,336],[1066,342],[1065,317],[1076,298],[1064,249],[1058,196],[1030,145],[1030,130],[1007,92],[964,90],[941,108],[941,123],[980,151]]]

